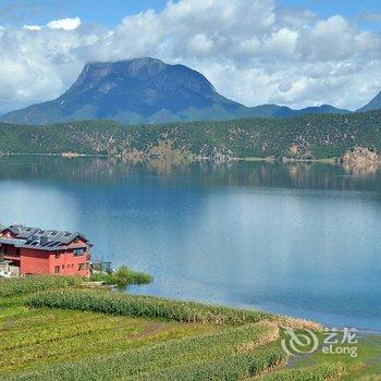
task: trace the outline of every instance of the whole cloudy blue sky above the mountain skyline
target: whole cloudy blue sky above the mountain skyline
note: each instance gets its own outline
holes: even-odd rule
[[[0,113],[58,97],[86,62],[138,57],[246,106],[354,110],[381,90],[381,1],[0,0]]]

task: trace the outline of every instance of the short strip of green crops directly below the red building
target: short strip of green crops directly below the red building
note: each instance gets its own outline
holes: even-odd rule
[[[78,276],[36,275],[0,280],[0,297],[28,294],[37,291],[75,286],[83,283]]]

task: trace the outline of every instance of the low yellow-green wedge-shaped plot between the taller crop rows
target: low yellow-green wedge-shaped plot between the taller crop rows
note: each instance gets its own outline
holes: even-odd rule
[[[180,324],[74,310],[30,309],[25,298],[0,302],[1,374],[207,334],[206,324]]]

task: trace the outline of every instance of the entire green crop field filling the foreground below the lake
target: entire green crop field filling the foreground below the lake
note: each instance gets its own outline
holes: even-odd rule
[[[286,367],[281,325],[253,310],[89,290],[71,278],[0,281],[0,380],[372,380],[381,339],[358,357],[302,356]]]

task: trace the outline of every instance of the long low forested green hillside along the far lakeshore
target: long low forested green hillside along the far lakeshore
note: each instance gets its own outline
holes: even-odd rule
[[[381,151],[381,111],[138,126],[110,121],[0,124],[3,153],[324,159],[340,157],[356,146]]]

